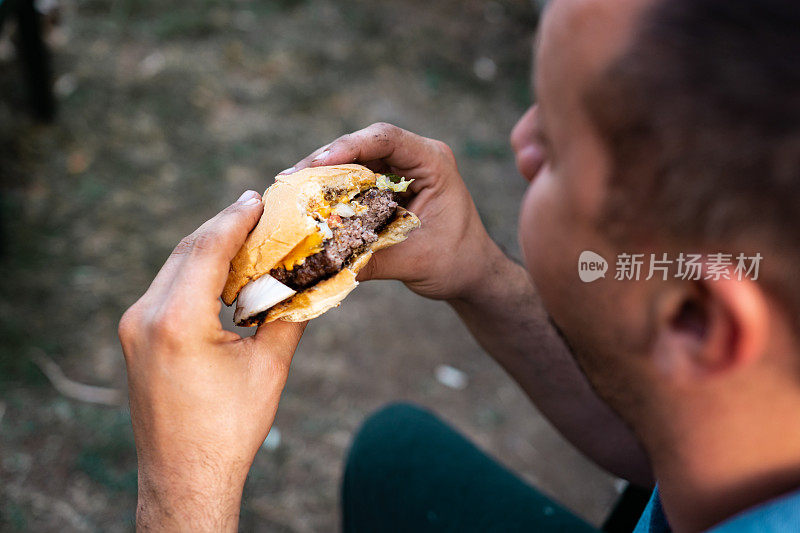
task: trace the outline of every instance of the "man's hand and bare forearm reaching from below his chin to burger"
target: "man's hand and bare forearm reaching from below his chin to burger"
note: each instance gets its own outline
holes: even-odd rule
[[[449,300],[475,339],[568,440],[609,471],[648,484],[647,457],[578,369],[527,271],[489,238],[450,148],[373,124],[284,172],[354,162],[414,178],[408,208],[422,220],[406,242],[376,253],[359,279],[399,279],[422,296]]]

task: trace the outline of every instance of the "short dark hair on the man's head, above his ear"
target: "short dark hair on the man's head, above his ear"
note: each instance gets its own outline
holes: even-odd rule
[[[609,231],[758,249],[800,310],[798,0],[655,0],[586,102],[612,156]]]

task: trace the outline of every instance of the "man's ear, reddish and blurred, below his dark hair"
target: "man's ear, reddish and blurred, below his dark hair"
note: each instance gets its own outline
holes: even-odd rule
[[[652,355],[676,383],[743,368],[767,349],[769,306],[752,280],[687,281],[658,306]]]

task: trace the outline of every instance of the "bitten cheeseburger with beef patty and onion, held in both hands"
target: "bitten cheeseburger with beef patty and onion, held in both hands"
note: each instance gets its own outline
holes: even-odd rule
[[[411,181],[361,165],[275,178],[261,220],[231,261],[222,300],[236,301],[234,323],[300,322],[338,306],[374,252],[419,227],[398,203]]]

